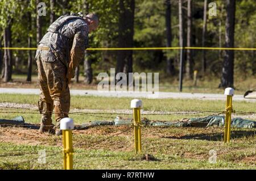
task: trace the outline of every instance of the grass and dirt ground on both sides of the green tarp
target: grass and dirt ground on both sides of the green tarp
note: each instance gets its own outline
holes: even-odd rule
[[[72,96],[71,112],[75,109],[102,112],[129,111],[130,98]],[[15,103],[36,108],[38,95],[0,94],[0,103]],[[221,100],[142,99],[143,110],[162,112],[221,111]],[[19,104],[18,104],[19,103]],[[254,111],[254,103],[234,102],[234,109]],[[0,117],[11,119],[22,115],[27,123],[39,123],[39,113],[31,110],[0,108]],[[2,113],[20,112],[20,113]],[[32,110],[36,112],[36,110]],[[189,115],[142,115],[150,120],[177,120]],[[92,120],[113,120],[110,117],[71,115],[76,124]],[[102,115],[96,115],[102,116]],[[106,115],[104,115],[106,116]],[[108,115],[107,115],[108,116]],[[253,120],[256,120],[254,117]],[[230,144],[223,143],[224,128],[143,127],[142,154],[134,154],[133,128],[125,126],[93,127],[73,131],[74,169],[256,169],[256,129],[232,129]],[[38,151],[46,150],[47,164],[38,163]],[[1,169],[62,169],[61,137],[26,128],[0,128]],[[217,153],[217,163],[209,162],[209,150]],[[150,154],[150,161],[144,159]]]

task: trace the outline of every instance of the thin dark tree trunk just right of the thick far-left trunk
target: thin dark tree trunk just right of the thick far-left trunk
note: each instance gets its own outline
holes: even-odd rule
[[[29,5],[30,1],[28,1],[28,5]],[[31,32],[31,12],[27,13],[27,20],[28,20],[28,37],[27,37],[27,44],[28,44],[28,48],[31,48],[31,41],[32,41],[32,37],[30,36],[30,32]],[[32,51],[28,50],[28,59],[27,59],[27,82],[31,82],[31,74],[32,74]]]

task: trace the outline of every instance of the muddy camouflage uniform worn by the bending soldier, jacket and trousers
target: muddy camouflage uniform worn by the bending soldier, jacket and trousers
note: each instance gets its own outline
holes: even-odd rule
[[[88,47],[88,24],[79,16],[61,16],[47,30],[36,50],[40,85],[39,111],[41,131],[52,127],[55,112],[56,128],[60,119],[68,117],[70,92],[68,83]]]

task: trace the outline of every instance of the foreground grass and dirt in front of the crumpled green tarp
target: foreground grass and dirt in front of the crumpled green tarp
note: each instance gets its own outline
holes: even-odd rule
[[[61,169],[61,138],[38,135],[35,130],[1,128],[2,169]],[[117,133],[127,129],[126,133]],[[255,130],[233,129],[229,145],[220,128],[143,128],[142,154],[134,155],[133,130],[127,127],[95,127],[74,131],[74,169],[256,169]],[[19,135],[21,134],[21,135]],[[10,136],[10,135],[9,135]],[[47,164],[37,163],[46,150]],[[217,163],[209,163],[209,150]],[[152,155],[146,161],[143,154]]]

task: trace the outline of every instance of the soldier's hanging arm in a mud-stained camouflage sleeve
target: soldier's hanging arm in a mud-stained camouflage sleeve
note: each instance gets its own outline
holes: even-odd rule
[[[75,77],[76,66],[84,57],[86,43],[88,42],[88,32],[85,30],[80,30],[75,34],[73,39],[73,45],[71,48],[70,61],[68,65],[67,78],[70,82],[73,77]]]

